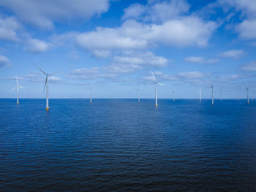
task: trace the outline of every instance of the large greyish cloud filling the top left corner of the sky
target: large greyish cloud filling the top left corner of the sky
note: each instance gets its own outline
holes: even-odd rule
[[[1,0],[0,6],[26,23],[50,29],[56,21],[89,20],[94,15],[100,15],[108,11],[109,0]]]

